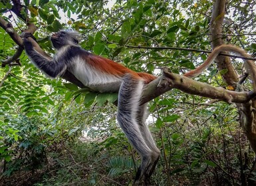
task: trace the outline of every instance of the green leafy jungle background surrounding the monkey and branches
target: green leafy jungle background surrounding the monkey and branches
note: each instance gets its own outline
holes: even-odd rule
[[[224,17],[221,35],[213,35],[218,2],[3,0],[0,18],[19,34],[35,24],[34,36],[49,54],[55,53],[51,34],[73,29],[81,34],[82,48],[160,76],[163,67],[184,74],[201,64],[213,36],[255,56],[256,2],[226,1],[225,15],[217,17]],[[25,52],[7,61],[19,48],[14,40],[0,28],[0,185],[132,185],[140,157],[116,122],[117,94],[86,92],[62,78],[47,78]],[[242,60],[231,61],[243,74]],[[234,90],[228,73],[214,63],[195,80]],[[252,89],[250,82],[245,80],[245,90]],[[256,180],[255,153],[235,104],[173,89],[149,102],[148,110],[161,149],[152,185]]]

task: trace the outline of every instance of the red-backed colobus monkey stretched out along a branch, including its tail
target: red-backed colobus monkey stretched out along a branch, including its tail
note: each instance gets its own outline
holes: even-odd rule
[[[32,37],[32,35],[27,35],[27,37]],[[94,91],[118,92],[118,124],[142,157],[142,163],[136,173],[134,184],[138,185],[142,177],[144,177],[146,185],[149,184],[150,176],[160,157],[160,150],[145,124],[146,104],[140,105],[140,98],[144,84],[148,84],[156,77],[144,72],[134,72],[122,64],[82,49],[78,45],[79,35],[74,31],[60,31],[51,36],[53,47],[57,49],[52,60],[37,52],[27,37],[23,43],[27,55],[35,66],[47,76],[56,78],[68,70],[84,86]],[[244,50],[235,46],[221,45],[213,50],[201,66],[184,74],[184,76],[193,78],[201,74],[213,62],[219,52],[223,51],[248,56]]]

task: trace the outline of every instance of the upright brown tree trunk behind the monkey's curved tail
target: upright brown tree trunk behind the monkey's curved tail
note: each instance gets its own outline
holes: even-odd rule
[[[213,5],[213,11],[211,15],[211,23],[210,23],[210,41],[211,47],[214,49],[215,47],[222,45],[224,43],[223,39],[220,38],[222,34],[222,24],[223,18],[225,15],[225,3],[224,0],[216,0]],[[227,73],[222,75],[223,81],[227,83],[227,85],[235,85],[238,76],[235,68],[231,64],[230,58],[227,56],[217,56],[215,59],[217,62],[218,70],[227,69]],[[252,82],[255,82],[255,77],[251,77]],[[255,87],[253,86],[255,89]],[[238,91],[243,91],[243,88],[240,88]],[[256,129],[255,129],[255,108],[256,101],[249,101],[243,104],[236,104],[237,110],[239,112],[239,122],[243,128],[243,132],[245,132],[249,143],[256,153]],[[252,167],[252,171],[256,170],[256,166]],[[255,185],[255,181],[249,181],[249,184]]]

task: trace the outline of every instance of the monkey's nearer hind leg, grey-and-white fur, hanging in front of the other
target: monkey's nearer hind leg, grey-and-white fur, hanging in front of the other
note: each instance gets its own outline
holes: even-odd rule
[[[137,120],[143,86],[142,80],[126,75],[118,94],[118,123],[132,146],[142,157],[142,163],[134,180],[135,185],[138,185],[142,176],[145,175],[153,153],[140,132]]]

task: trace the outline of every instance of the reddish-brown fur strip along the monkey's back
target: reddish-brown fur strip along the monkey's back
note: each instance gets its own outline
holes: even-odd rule
[[[86,62],[88,62],[88,64],[90,64],[93,68],[121,78],[125,74],[131,74],[133,78],[142,78],[146,84],[156,79],[156,77],[151,74],[146,72],[134,72],[118,62],[114,62],[113,60],[103,58],[102,56],[96,56],[94,54],[88,54],[88,56],[86,56]]]

